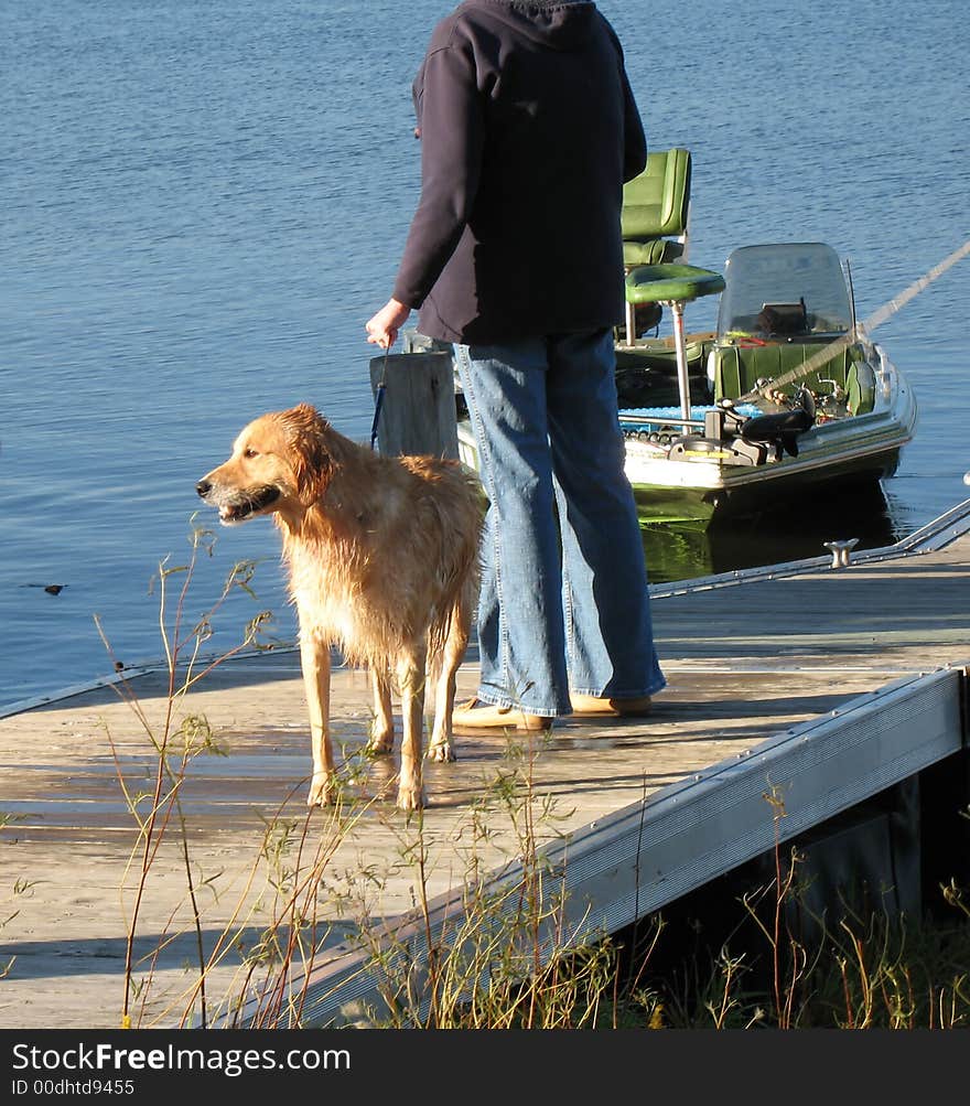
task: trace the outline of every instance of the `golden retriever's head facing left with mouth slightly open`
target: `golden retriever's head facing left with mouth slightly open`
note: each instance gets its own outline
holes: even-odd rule
[[[236,439],[232,455],[206,473],[196,491],[218,508],[226,525],[259,514],[302,513],[328,483],[330,424],[307,404],[253,419]]]

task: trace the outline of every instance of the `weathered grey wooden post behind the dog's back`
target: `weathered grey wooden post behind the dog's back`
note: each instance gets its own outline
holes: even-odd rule
[[[458,458],[455,414],[455,368],[451,354],[396,353],[371,359],[371,389],[384,379],[377,420],[382,453],[430,453]]]

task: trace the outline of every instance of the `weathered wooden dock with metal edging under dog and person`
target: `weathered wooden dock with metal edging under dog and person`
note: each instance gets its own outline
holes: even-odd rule
[[[346,804],[307,815],[298,655],[216,668],[179,697],[169,726],[170,753],[187,734],[194,752],[184,778],[169,758],[180,811],[138,906],[132,1024],[196,1023],[200,947],[213,958],[209,1015],[225,1016],[268,930],[293,936],[298,912],[316,927],[294,946],[290,988],[303,1023],[367,1023],[382,1001],[367,946],[419,975],[428,933],[453,928],[462,891],[514,880],[533,842],[567,893],[557,925],[582,940],[770,849],[768,792],[784,803],[786,839],[929,765],[966,759],[970,501],[896,546],[838,568],[831,561],[820,551],[653,588],[669,681],[653,717],[564,720],[547,737],[459,737],[457,763],[427,765],[420,817],[386,797],[393,761],[359,757],[364,674],[334,677],[337,739],[353,769]],[[0,719],[0,1027],[121,1024],[144,841],[129,806],[143,820],[150,810],[137,796],[155,786],[153,741],[169,703],[165,670],[126,680]],[[459,696],[476,684],[470,654]],[[134,703],[119,697],[125,687]],[[201,717],[211,744],[196,752],[207,731],[181,720]],[[261,1009],[250,998],[237,1013],[259,1024]]]

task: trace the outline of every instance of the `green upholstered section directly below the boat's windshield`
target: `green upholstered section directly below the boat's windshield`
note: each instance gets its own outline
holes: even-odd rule
[[[788,373],[797,372],[811,357],[822,348],[817,342],[776,342],[765,345],[728,344],[715,346],[712,351],[712,375],[715,401],[719,399],[738,399],[753,392],[761,378],[776,379]],[[800,377],[794,387],[802,384],[813,392],[825,394],[832,390],[834,380],[839,388],[849,389],[854,380],[857,404],[872,403],[875,397],[875,380],[867,393],[867,385],[858,373],[852,369],[862,361],[862,351],[857,345],[849,345],[833,354],[807,375]],[[852,400],[851,400],[852,403]]]

